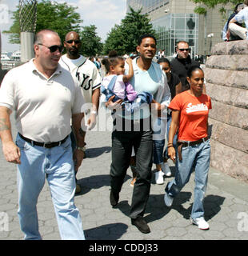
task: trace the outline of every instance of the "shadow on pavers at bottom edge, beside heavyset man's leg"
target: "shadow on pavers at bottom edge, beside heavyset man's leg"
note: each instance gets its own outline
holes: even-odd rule
[[[126,233],[128,226],[123,223],[114,223],[84,230],[86,240],[118,240]]]

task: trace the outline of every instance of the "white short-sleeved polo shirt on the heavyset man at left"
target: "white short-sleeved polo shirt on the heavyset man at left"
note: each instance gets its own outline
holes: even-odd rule
[[[0,106],[15,111],[17,130],[26,138],[58,142],[70,134],[72,114],[82,113],[82,90],[59,64],[47,79],[33,61],[6,74],[0,89]]]

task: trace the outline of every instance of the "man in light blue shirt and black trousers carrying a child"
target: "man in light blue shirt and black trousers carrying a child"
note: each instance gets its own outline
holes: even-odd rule
[[[155,113],[166,113],[170,102],[170,89],[167,85],[166,74],[158,63],[153,62],[156,53],[156,39],[151,34],[143,35],[137,46],[139,57],[133,60],[134,77],[130,83],[138,93],[153,94]],[[110,204],[117,206],[119,193],[130,166],[132,148],[136,156],[137,179],[134,183],[133,198],[130,206],[130,218],[134,226],[142,233],[150,233],[143,215],[150,194],[150,182],[153,164],[153,131],[151,128],[151,110],[144,104],[140,111],[134,114],[123,114],[121,102],[113,102],[111,97],[106,106],[116,110],[114,115],[114,131],[112,133],[112,163],[110,166]],[[158,115],[157,115],[158,117]]]

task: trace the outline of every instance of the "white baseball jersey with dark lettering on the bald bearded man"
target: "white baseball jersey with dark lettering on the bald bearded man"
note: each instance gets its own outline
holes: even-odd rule
[[[70,59],[62,55],[60,65],[69,70],[74,82],[82,88],[86,103],[92,102],[92,92],[101,86],[102,78],[93,62],[80,55],[77,59]]]

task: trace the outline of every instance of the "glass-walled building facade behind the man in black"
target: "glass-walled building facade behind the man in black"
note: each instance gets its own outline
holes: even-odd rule
[[[179,41],[189,42],[191,56],[198,54],[198,14],[192,13],[168,13],[164,12],[170,6],[170,0],[127,0],[127,11],[129,6],[134,10],[142,8],[142,14],[149,14],[154,30],[157,31],[158,50],[165,50],[166,57],[172,58],[175,46]],[[163,14],[154,16],[159,9]]]

